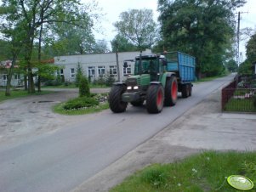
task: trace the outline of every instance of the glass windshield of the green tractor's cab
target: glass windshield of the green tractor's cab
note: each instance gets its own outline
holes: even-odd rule
[[[140,65],[141,62],[141,65]],[[157,72],[156,58],[136,59],[134,75],[152,74]]]

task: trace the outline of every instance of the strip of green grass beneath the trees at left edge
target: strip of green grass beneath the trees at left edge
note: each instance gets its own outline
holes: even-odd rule
[[[48,94],[51,93],[50,91],[42,91],[40,93],[27,93],[25,90],[12,90],[10,96],[5,96],[5,91],[0,91],[0,102],[8,99],[15,99],[15,98],[21,98],[26,97],[30,95],[42,95],[42,94]]]

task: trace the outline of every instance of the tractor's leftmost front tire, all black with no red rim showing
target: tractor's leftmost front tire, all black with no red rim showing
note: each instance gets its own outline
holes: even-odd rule
[[[127,108],[127,102],[122,102],[122,93],[126,91],[126,87],[122,85],[115,85],[111,88],[109,94],[110,108],[114,113],[122,113]]]

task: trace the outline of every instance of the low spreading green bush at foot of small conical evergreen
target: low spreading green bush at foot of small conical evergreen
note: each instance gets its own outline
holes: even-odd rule
[[[65,110],[77,110],[77,109],[81,109],[84,107],[92,107],[94,105],[98,105],[99,101],[97,99],[94,98],[88,98],[88,97],[80,97],[77,99],[71,99],[69,101],[67,101],[63,108]]]

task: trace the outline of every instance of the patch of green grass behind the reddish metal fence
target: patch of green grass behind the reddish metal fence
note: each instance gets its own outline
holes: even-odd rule
[[[225,111],[237,111],[237,112],[256,112],[256,108],[253,106],[253,98],[250,99],[230,99],[225,104]]]

